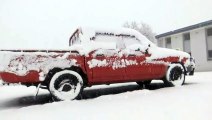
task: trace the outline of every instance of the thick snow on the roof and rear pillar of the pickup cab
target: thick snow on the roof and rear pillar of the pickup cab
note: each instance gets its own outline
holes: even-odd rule
[[[95,37],[99,35],[103,36],[116,36],[116,37],[132,37],[136,38],[143,45],[151,44],[155,46],[150,40],[138,31],[130,28],[92,28],[92,27],[79,27],[71,36],[69,43],[72,41],[72,37],[78,34],[80,38],[80,44],[72,45],[71,50],[77,50],[81,54],[88,54],[90,51],[104,48],[104,49],[116,49],[116,43],[108,43],[107,41],[95,42]],[[85,47],[86,46],[86,47]]]

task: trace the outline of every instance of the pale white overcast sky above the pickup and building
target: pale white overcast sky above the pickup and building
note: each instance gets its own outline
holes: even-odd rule
[[[78,26],[142,21],[157,34],[212,19],[212,0],[0,0],[0,48],[63,47]]]

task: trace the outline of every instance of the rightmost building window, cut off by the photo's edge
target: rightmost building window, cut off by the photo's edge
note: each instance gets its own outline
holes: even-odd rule
[[[207,51],[208,58],[212,59],[212,28],[207,29]]]

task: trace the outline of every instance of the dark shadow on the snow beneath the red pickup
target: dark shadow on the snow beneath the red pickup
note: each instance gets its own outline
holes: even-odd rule
[[[185,85],[193,85],[193,84],[196,84],[196,83],[185,83]],[[145,88],[142,88],[136,84],[132,84],[132,85],[124,85],[124,86],[112,86],[109,88],[87,89],[83,91],[83,93],[81,94],[78,100],[94,99],[104,95],[120,94],[124,92],[136,91],[136,90],[142,90],[142,89],[157,90],[164,87],[168,87],[168,86],[166,86],[163,83],[151,83]],[[42,104],[51,103],[51,102],[54,102],[54,101],[52,100],[52,96],[48,93],[39,94],[37,97],[25,96],[25,97],[11,98],[10,100],[3,101],[3,103],[0,103],[0,110],[10,109],[10,108],[21,108],[21,107],[27,107],[32,105],[42,105]]]

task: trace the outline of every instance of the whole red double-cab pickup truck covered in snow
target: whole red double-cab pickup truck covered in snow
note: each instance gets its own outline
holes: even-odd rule
[[[59,42],[59,41],[58,41]],[[47,88],[56,100],[76,99],[83,88],[163,80],[183,85],[191,56],[159,48],[139,32],[78,28],[62,50],[1,50],[0,76],[8,83]]]

